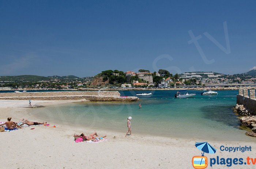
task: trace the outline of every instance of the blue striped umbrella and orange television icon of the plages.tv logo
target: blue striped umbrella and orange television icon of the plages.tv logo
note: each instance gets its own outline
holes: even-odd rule
[[[208,160],[207,160],[207,157],[204,156],[204,153],[214,154],[216,153],[216,149],[207,142],[196,142],[195,146],[197,149],[203,151],[203,153],[201,153],[202,154],[201,156],[194,156],[192,158],[193,168],[195,169],[207,168]]]

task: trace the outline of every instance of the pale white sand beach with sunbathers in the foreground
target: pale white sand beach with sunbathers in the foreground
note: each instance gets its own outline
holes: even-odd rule
[[[33,101],[33,105],[60,104],[67,101]],[[42,122],[42,119],[31,119],[28,114],[28,101],[0,100],[0,121],[11,116],[14,121],[25,117],[31,121]],[[11,132],[0,132],[0,168],[10,169],[69,169],[69,168],[172,168],[191,169],[193,156],[200,155],[195,142],[198,139],[167,138],[150,135],[132,135],[124,137],[123,133],[97,130],[99,135],[107,134],[109,141],[99,143],[75,143],[74,133],[90,134],[90,128],[76,128],[55,124],[56,128],[36,126],[22,128]],[[114,138],[116,137],[116,138]],[[246,135],[244,137],[247,137]],[[206,138],[207,139],[207,138]],[[217,149],[215,154],[205,154],[210,158],[256,158],[255,142],[218,142],[209,141]],[[229,153],[220,151],[224,146],[252,146],[252,151]],[[208,166],[207,168],[211,168]],[[255,165],[213,165],[217,168],[254,169]]]

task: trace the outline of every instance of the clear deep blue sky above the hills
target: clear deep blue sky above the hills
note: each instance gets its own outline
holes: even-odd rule
[[[256,69],[256,1],[0,0],[0,76]]]

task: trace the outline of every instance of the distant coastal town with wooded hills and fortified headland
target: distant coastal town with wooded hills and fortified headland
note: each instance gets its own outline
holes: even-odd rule
[[[225,75],[214,72],[171,74],[140,69],[134,71],[106,70],[94,77],[76,76],[0,76],[0,90],[17,89],[86,89],[86,88],[177,88],[177,87],[253,87],[256,70],[242,74]]]

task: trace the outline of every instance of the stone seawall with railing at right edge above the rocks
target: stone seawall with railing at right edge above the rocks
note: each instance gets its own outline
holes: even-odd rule
[[[237,104],[244,105],[250,115],[256,115],[255,90],[239,89]]]

